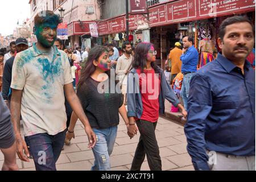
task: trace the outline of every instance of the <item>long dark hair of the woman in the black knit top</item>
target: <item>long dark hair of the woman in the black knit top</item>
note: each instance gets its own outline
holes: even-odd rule
[[[81,77],[77,87],[82,86],[87,78],[89,78],[94,71],[96,71],[96,66],[93,64],[93,60],[98,60],[99,57],[104,52],[109,52],[104,46],[94,46],[88,55],[84,69],[82,69]]]

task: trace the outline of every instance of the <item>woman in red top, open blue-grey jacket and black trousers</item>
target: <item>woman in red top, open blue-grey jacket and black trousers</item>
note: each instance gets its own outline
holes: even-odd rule
[[[155,55],[156,51],[151,43],[138,44],[135,49],[133,69],[129,73],[127,82],[129,123],[133,126],[136,121],[141,134],[131,164],[132,171],[141,169],[146,154],[150,169],[162,170],[155,128],[159,113],[164,113],[165,98],[179,107],[183,116],[187,117],[187,111],[167,83],[163,70],[155,65]],[[134,133],[136,133],[135,128]]]

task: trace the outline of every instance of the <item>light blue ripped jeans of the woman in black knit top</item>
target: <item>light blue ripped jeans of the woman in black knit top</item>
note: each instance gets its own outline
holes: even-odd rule
[[[117,137],[117,126],[107,129],[93,129],[96,134],[96,144],[92,148],[95,158],[92,171],[110,171],[109,156],[112,154],[115,138]]]

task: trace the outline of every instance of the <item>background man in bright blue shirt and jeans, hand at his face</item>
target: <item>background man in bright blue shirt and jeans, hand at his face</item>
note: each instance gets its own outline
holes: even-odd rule
[[[188,36],[183,38],[183,50],[182,55],[180,56],[180,60],[182,61],[181,73],[183,73],[181,97],[184,102],[185,110],[187,110],[189,83],[192,76],[196,72],[198,62],[198,52],[193,46],[193,38]]]

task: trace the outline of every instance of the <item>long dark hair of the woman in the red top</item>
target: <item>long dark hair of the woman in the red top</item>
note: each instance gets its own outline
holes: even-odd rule
[[[146,57],[148,51],[150,51],[151,46],[153,44],[142,42],[137,45],[135,48],[134,60],[133,60],[133,68],[140,68],[141,72],[143,73],[143,69],[146,67]],[[155,65],[155,62],[151,62],[151,67],[155,70],[155,73],[159,73],[159,67]]]

